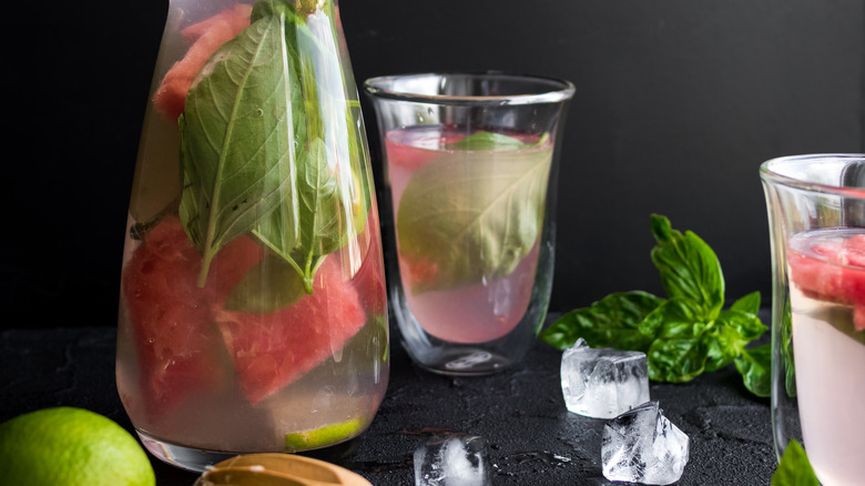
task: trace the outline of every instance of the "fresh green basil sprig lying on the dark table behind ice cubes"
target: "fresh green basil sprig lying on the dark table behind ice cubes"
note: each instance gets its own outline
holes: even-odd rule
[[[592,347],[644,352],[649,377],[658,382],[688,382],[735,363],[745,387],[769,396],[770,345],[746,347],[767,330],[757,317],[760,293],[724,310],[724,277],[712,249],[661,215],[651,215],[651,229],[657,241],[651,257],[668,298],[613,293],[562,315],[540,338],[560,350],[582,337]]]

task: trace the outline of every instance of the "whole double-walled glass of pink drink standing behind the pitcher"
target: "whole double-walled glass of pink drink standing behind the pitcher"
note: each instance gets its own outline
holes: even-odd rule
[[[391,308],[432,372],[518,363],[552,287],[564,80],[419,73],[364,83],[385,169]]]

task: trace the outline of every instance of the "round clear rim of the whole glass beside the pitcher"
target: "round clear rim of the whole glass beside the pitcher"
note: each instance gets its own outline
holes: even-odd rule
[[[517,80],[533,81],[539,84],[547,84],[549,89],[526,90],[525,93],[495,94],[495,95],[454,95],[454,94],[426,94],[406,90],[394,90],[389,88],[396,80],[421,78],[477,78],[490,80]],[[367,94],[397,101],[410,101],[416,103],[430,104],[455,104],[455,105],[518,105],[518,104],[539,104],[558,103],[573,98],[577,88],[572,82],[561,79],[537,74],[523,74],[506,71],[430,71],[407,74],[391,74],[369,78],[364,81],[364,90]]]

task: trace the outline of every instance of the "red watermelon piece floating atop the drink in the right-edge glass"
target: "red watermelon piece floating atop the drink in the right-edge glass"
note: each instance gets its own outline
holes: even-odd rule
[[[790,279],[803,292],[852,305],[857,330],[865,330],[865,235],[821,241],[810,255],[791,250]]]

